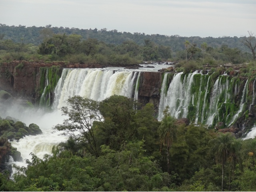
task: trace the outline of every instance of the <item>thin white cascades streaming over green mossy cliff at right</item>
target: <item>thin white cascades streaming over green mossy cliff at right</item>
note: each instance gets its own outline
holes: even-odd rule
[[[242,98],[236,101],[241,87],[239,77],[220,75],[212,81],[210,75],[195,71],[190,74],[177,73],[166,90],[167,73],[161,87],[158,120],[163,117],[163,110],[169,106],[170,115],[176,118],[189,118],[195,123],[215,126],[217,122],[231,125],[242,111],[248,89],[246,81]],[[234,91],[233,91],[234,90]]]

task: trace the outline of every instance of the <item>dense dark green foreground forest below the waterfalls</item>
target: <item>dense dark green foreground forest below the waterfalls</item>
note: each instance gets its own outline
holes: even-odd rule
[[[2,191],[254,191],[256,139],[188,125],[131,99],[75,96],[54,129],[70,136],[43,159],[0,174]],[[167,110],[166,110],[167,111]],[[93,121],[93,124],[92,124]]]

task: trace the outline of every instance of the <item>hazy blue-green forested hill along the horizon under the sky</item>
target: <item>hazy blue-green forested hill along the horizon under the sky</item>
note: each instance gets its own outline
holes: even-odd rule
[[[118,32],[117,30],[107,31],[107,29],[98,30],[95,29],[78,29],[78,28],[63,28],[63,27],[48,27],[55,33],[55,34],[78,34],[81,35],[82,38],[96,38],[100,41],[103,41],[108,44],[122,44],[122,42],[126,40],[132,40],[139,45],[144,44],[144,40],[151,40],[159,45],[170,46],[172,51],[180,51],[184,49],[184,42],[188,40],[191,43],[195,43],[200,47],[203,42],[206,42],[208,46],[213,48],[220,47],[221,45],[225,44],[229,48],[238,48],[242,51],[250,52],[246,46],[244,46],[241,41],[243,37],[181,37],[178,35],[174,36],[166,36],[160,34],[151,34],[147,35],[144,33],[130,33],[130,32]],[[10,39],[16,43],[23,42],[26,44],[32,43],[34,45],[39,45],[42,42],[42,38],[40,38],[40,30],[44,29],[45,27],[26,27],[26,26],[7,26],[5,24],[0,24],[0,37],[4,34],[3,40]]]

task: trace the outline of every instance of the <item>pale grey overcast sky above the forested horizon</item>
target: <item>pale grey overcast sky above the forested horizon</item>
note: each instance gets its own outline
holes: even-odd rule
[[[256,0],[0,0],[0,23],[222,37],[256,34]]]

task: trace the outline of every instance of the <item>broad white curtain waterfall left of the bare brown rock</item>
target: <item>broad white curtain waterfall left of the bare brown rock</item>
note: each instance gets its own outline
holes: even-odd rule
[[[134,81],[136,77],[137,79],[139,77],[137,73],[104,69],[63,70],[55,89],[53,107],[66,106],[68,97],[74,95],[96,101],[102,101],[111,95],[123,95],[131,98]]]

